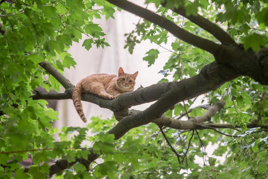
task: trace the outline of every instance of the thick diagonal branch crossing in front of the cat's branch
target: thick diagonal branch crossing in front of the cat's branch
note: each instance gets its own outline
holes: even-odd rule
[[[229,71],[229,69],[224,66],[221,68],[224,72],[217,73],[218,70],[213,68],[216,67],[214,65],[218,66],[217,63],[211,63],[205,66],[198,75],[184,79],[180,82],[175,82],[172,84],[172,87],[170,87],[170,90],[159,98],[157,102],[144,111],[131,116],[126,116],[118,122],[110,132],[115,133],[115,138],[120,138],[131,128],[148,124],[155,118],[161,117],[171,106],[178,102],[210,92],[211,90],[218,88],[225,81],[229,81],[230,77],[234,78],[236,76],[233,71]],[[222,74],[225,75],[222,76]],[[230,76],[226,74],[229,74]]]

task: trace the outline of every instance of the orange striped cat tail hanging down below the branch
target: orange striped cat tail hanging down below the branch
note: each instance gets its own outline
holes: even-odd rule
[[[82,94],[82,80],[77,83],[73,90],[72,100],[74,103],[74,107],[82,119],[83,122],[87,122],[87,118],[83,111],[82,103],[81,103],[81,94]]]

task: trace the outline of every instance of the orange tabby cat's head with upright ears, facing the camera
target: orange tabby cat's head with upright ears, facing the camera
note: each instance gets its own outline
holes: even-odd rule
[[[133,74],[125,73],[124,70],[120,67],[116,81],[116,87],[118,90],[121,92],[133,91],[138,73],[138,71]]]

